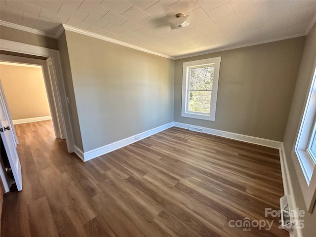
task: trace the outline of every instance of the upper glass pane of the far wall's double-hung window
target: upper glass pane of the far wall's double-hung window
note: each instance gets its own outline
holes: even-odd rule
[[[190,90],[211,90],[214,66],[190,69]]]

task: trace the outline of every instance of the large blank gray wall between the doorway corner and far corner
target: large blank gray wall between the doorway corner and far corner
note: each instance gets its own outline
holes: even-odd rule
[[[66,31],[84,152],[173,121],[174,61]]]

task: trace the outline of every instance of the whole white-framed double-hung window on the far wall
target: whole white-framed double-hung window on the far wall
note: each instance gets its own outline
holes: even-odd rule
[[[182,117],[215,120],[221,57],[182,64]]]

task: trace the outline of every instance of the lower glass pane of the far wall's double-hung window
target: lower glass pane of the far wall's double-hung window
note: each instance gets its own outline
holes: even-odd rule
[[[210,113],[212,91],[190,91],[189,111]]]

